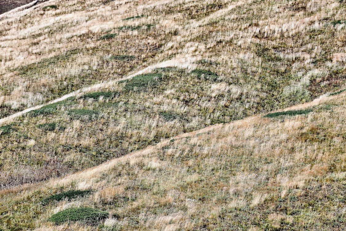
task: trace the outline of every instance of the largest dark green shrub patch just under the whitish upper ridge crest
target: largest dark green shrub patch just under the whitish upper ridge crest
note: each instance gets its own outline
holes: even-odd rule
[[[147,87],[154,87],[161,80],[162,74],[140,74],[136,75],[132,79],[128,80],[124,89],[125,90],[133,90],[137,89],[145,89]]]

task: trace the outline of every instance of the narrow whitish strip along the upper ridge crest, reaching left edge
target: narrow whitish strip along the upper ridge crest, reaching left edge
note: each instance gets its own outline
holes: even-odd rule
[[[151,72],[155,68],[165,68],[165,67],[169,67],[169,66],[175,66],[175,67],[179,67],[179,68],[189,68],[191,66],[192,62],[194,62],[195,60],[197,60],[196,57],[182,57],[182,58],[176,58],[176,59],[171,59],[171,60],[163,61],[163,62],[160,62],[160,63],[156,63],[156,64],[148,66],[148,67],[146,67],[146,68],[144,68],[144,69],[142,69],[140,71],[137,71],[136,73],[130,74],[130,75],[124,77],[124,78],[117,79],[117,80],[109,80],[109,81],[105,81],[105,82],[102,82],[102,83],[97,83],[97,84],[89,86],[89,87],[81,88],[81,89],[73,91],[73,92],[71,92],[69,94],[66,94],[66,95],[64,95],[64,96],[62,96],[60,98],[54,99],[52,101],[49,101],[48,103],[37,105],[37,106],[34,106],[34,107],[30,107],[30,108],[27,108],[27,109],[22,110],[20,112],[17,112],[15,114],[12,114],[10,116],[1,118],[0,119],[0,125],[4,124],[4,123],[11,122],[11,121],[13,121],[13,119],[15,119],[15,118],[17,118],[19,116],[22,116],[25,113],[31,112],[33,110],[40,109],[40,108],[42,108],[42,107],[44,107],[46,105],[57,103],[57,102],[65,100],[65,99],[67,99],[67,98],[69,98],[71,96],[78,96],[78,95],[81,95],[81,94],[83,94],[85,92],[95,91],[95,90],[107,88],[107,87],[112,86],[113,84],[115,84],[115,83],[117,83],[117,82],[119,82],[121,80],[127,80],[127,79],[130,79],[130,78],[132,78],[132,77],[134,77],[136,75]]]

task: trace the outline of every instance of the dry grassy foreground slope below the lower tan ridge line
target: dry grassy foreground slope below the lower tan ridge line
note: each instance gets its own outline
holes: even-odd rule
[[[345,97],[289,108],[306,114],[214,125],[64,178],[3,190],[0,227],[344,230]],[[92,191],[41,202],[70,189]],[[96,226],[47,222],[69,207],[110,215]]]

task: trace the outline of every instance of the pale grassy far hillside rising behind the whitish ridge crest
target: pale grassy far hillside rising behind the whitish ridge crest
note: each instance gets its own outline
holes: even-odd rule
[[[211,59],[225,84],[265,101],[258,109],[309,101],[344,85],[343,8],[337,0],[73,0],[5,14],[0,116],[179,55]],[[100,39],[107,34],[118,35]]]

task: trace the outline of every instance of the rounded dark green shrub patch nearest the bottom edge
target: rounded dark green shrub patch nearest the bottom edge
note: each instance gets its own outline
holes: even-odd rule
[[[65,222],[83,222],[89,225],[97,225],[108,217],[107,211],[100,211],[94,208],[68,208],[52,215],[48,221],[54,222],[56,225]]]

